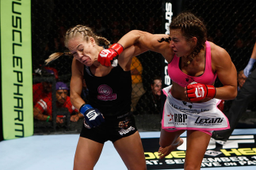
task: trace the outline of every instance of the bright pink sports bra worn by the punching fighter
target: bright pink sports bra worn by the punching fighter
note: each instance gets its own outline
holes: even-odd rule
[[[181,71],[179,68],[179,60],[180,58],[174,55],[174,59],[168,64],[168,74],[170,79],[178,85],[185,87],[189,85],[189,83],[196,81],[198,83],[202,83],[204,85],[212,85],[212,83],[216,80],[217,74],[212,73],[212,59],[211,59],[211,46],[208,41],[205,42],[205,68],[204,74],[201,76],[193,77],[189,76]]]

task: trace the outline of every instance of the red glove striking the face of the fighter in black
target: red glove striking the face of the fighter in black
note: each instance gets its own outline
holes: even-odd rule
[[[109,49],[101,50],[97,57],[97,61],[103,66],[110,66],[113,58],[118,57],[123,50],[124,47],[120,43],[114,43]]]

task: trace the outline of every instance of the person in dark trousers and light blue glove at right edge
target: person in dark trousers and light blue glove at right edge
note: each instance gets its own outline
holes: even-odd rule
[[[238,95],[235,97],[229,109],[227,119],[230,123],[230,129],[213,131],[212,138],[216,140],[217,143],[225,145],[227,139],[231,136],[233,130],[235,130],[236,125],[239,123],[239,119],[242,117],[243,113],[246,112],[249,101],[253,96],[256,95],[256,70],[250,74],[250,70],[254,66],[256,61],[256,43],[254,44],[253,52],[250,56],[250,60],[243,70],[244,75],[248,77],[243,85],[243,88],[240,89]],[[250,75],[249,75],[250,74]]]

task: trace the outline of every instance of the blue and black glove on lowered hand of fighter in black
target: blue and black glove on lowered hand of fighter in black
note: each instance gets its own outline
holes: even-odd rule
[[[91,107],[90,104],[82,104],[81,108],[79,108],[79,112],[85,117],[86,123],[90,128],[97,127],[105,122],[101,112],[97,110],[97,108]]]

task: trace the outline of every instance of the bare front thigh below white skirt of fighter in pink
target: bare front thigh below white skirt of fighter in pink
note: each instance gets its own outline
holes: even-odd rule
[[[200,169],[201,161],[211,139],[209,134],[197,130],[187,131],[185,168]],[[197,157],[195,157],[197,155]]]

